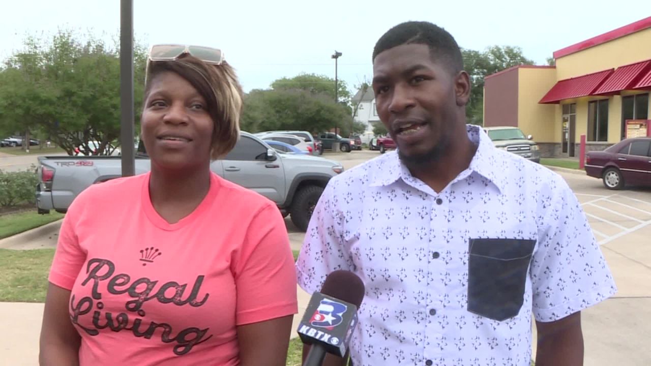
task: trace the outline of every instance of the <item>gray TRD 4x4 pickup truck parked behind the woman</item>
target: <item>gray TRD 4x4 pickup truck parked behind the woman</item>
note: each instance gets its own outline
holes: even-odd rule
[[[146,173],[150,160],[140,143],[135,173]],[[233,150],[211,163],[219,176],[254,190],[275,202],[284,217],[305,231],[312,210],[327,182],[344,171],[339,162],[318,156],[277,152],[252,134],[242,132]],[[91,184],[122,176],[119,156],[40,156],[36,207],[40,214],[66,212],[81,191]]]

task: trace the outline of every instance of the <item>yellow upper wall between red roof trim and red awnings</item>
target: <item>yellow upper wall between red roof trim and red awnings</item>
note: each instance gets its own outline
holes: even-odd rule
[[[557,80],[651,59],[651,28],[556,60]]]

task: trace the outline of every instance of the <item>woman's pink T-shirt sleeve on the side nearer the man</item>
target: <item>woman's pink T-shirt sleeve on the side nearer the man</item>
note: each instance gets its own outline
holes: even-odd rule
[[[253,217],[232,270],[238,326],[298,313],[294,256],[283,216],[272,204]]]

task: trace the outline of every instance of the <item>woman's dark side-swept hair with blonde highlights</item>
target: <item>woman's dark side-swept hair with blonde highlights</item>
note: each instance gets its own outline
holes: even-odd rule
[[[204,63],[191,55],[174,61],[148,61],[145,96],[154,77],[161,72],[174,72],[186,79],[208,104],[214,122],[210,158],[217,160],[232,150],[240,138],[242,86],[235,70],[226,61],[219,65]],[[146,99],[146,98],[145,98]]]

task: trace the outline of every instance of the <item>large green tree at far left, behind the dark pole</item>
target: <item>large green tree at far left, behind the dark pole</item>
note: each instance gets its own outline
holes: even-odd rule
[[[134,47],[134,122],[141,111],[145,49]],[[120,60],[118,48],[87,36],[79,41],[71,31],[59,31],[49,41],[27,38],[2,72],[7,84],[0,100],[13,111],[8,124],[29,134],[37,129],[72,154],[79,145],[98,141],[100,151],[120,136]]]

